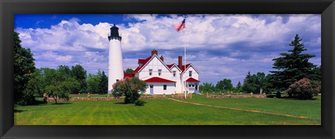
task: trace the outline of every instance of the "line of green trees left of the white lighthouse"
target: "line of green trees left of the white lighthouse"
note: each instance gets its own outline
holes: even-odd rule
[[[108,78],[99,69],[96,75],[80,65],[57,68],[36,68],[34,55],[21,46],[19,34],[14,32],[14,96],[15,104],[30,105],[35,97],[47,94],[55,98],[69,98],[69,94],[107,94]]]

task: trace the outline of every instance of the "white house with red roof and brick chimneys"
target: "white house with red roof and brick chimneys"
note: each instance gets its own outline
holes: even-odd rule
[[[147,82],[146,94],[183,94],[199,93],[200,72],[193,64],[182,65],[179,56],[177,64],[165,64],[163,56],[158,57],[158,51],[152,50],[147,59],[138,59],[138,66],[124,78],[136,77]],[[186,67],[186,70],[185,70]]]

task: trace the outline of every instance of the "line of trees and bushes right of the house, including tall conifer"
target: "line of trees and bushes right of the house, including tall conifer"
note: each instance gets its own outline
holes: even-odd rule
[[[308,60],[315,57],[313,54],[303,54],[307,49],[299,34],[289,44],[292,49],[281,53],[281,57],[272,59],[274,71],[270,74],[258,72],[246,74],[246,78],[232,86],[231,80],[223,79],[213,85],[204,82],[200,85],[201,92],[243,92],[243,93],[270,93],[276,92],[280,97],[281,92],[286,92],[290,97],[312,98],[321,91],[321,66],[312,64]],[[309,92],[309,93],[306,93]],[[311,93],[313,92],[313,93]]]

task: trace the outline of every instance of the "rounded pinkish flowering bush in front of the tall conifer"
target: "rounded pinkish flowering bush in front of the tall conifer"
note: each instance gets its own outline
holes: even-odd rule
[[[320,93],[321,86],[318,82],[311,82],[307,78],[303,78],[292,85],[285,92],[290,96],[297,96],[299,99],[311,99]]]

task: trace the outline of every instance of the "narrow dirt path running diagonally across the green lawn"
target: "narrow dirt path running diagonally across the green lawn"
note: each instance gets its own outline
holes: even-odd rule
[[[297,115],[286,115],[283,113],[276,113],[276,112],[265,112],[265,111],[260,111],[260,110],[248,110],[248,109],[242,109],[242,108],[229,108],[229,107],[223,107],[223,106],[218,106],[218,105],[208,105],[208,104],[201,104],[201,103],[192,103],[192,102],[187,102],[187,101],[180,101],[174,98],[168,98],[172,101],[178,101],[181,103],[188,103],[188,104],[194,104],[194,105],[204,105],[208,107],[214,107],[214,108],[224,108],[224,109],[230,109],[230,110],[242,110],[246,112],[258,112],[258,113],[265,113],[269,115],[280,115],[280,116],[285,116],[285,117],[295,117],[295,118],[302,118],[302,119],[320,119],[320,118],[313,118],[313,117],[305,117],[305,116],[297,116]]]

